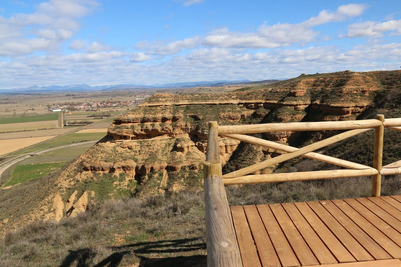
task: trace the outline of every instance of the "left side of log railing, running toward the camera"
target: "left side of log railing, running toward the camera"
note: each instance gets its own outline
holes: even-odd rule
[[[219,153],[217,122],[209,122],[206,162],[203,163],[206,211],[207,266],[242,267],[233,219],[227,201]]]

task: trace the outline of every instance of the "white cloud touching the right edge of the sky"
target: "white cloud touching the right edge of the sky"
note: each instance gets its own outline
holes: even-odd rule
[[[390,35],[401,35],[401,20],[388,20],[385,22],[365,21],[348,26],[346,37],[382,37],[385,32]]]

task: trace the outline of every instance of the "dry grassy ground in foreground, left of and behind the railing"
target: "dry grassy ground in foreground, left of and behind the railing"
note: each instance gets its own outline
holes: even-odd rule
[[[401,194],[400,176],[382,194]],[[226,187],[230,205],[365,197],[371,179]],[[0,239],[0,266],[205,266],[202,191],[91,204],[77,218],[35,221]]]

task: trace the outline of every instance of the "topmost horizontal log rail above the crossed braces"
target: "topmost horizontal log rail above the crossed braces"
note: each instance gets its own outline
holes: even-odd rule
[[[401,120],[401,118],[399,120]],[[390,125],[391,123],[388,124]],[[380,120],[375,120],[375,119],[227,125],[227,126],[219,126],[219,135],[249,134],[258,132],[363,129],[363,128],[375,128],[376,126],[379,125],[382,125],[382,122]],[[399,125],[391,125],[391,126],[399,126]]]

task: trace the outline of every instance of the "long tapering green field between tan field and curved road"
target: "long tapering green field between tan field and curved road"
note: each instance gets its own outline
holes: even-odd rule
[[[30,153],[30,152],[34,152],[34,151],[41,151],[41,150],[49,149],[52,147],[69,145],[69,144],[73,144],[73,143],[79,143],[79,142],[91,141],[91,140],[99,140],[99,139],[102,139],[104,136],[105,136],[104,132],[69,133],[68,135],[63,135],[61,137],[50,139],[43,143],[34,145],[33,147],[28,147],[27,149],[23,149],[23,150],[14,152],[10,155],[20,155],[20,154]]]

